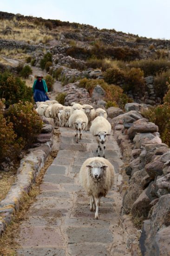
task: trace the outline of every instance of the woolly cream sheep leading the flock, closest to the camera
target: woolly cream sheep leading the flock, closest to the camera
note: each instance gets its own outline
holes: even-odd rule
[[[90,211],[95,210],[96,199],[95,219],[98,219],[100,199],[102,196],[105,197],[111,189],[114,178],[114,167],[105,158],[92,157],[86,159],[80,168],[79,182],[90,196]]]

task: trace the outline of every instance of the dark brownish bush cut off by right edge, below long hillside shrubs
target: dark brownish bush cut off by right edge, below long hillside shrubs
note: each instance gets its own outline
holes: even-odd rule
[[[157,97],[163,99],[167,92],[168,86],[166,82],[170,82],[170,70],[163,71],[154,77],[154,89]]]

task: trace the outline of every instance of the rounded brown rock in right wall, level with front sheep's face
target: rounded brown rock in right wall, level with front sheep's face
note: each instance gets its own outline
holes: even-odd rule
[[[145,171],[151,178],[163,174],[163,162],[160,160],[153,161],[145,166]]]

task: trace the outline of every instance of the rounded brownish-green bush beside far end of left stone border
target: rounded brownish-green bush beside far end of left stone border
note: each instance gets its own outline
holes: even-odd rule
[[[18,139],[23,139],[24,147],[28,148],[40,133],[43,122],[33,104],[29,102],[19,102],[9,106],[8,121],[13,123],[13,130]]]

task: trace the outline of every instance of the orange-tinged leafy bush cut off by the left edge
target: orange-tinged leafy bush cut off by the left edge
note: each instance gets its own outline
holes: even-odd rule
[[[11,122],[7,123],[3,116],[3,103],[4,101],[0,100],[0,162],[6,157],[16,158],[20,148],[20,141],[16,140],[17,135],[13,131],[13,124]]]

